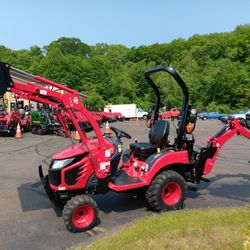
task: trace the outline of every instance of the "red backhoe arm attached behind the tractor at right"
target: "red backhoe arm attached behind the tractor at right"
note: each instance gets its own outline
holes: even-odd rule
[[[212,171],[219,151],[235,134],[250,139],[250,126],[246,122],[232,120],[217,134],[208,138],[207,146],[201,149],[199,159],[196,164],[196,181],[198,183],[202,175],[207,175]]]

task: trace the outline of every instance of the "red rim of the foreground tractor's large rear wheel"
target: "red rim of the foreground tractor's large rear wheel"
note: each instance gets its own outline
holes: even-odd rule
[[[167,183],[162,189],[162,200],[167,206],[173,206],[181,198],[181,187],[176,182]]]

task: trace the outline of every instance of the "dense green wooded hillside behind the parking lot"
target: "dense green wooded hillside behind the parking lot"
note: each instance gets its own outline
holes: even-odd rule
[[[174,68],[187,83],[199,110],[229,112],[249,108],[250,25],[233,32],[194,35],[187,40],[127,48],[61,37],[40,48],[11,50],[0,46],[0,60],[42,75],[89,96],[90,107],[136,103],[148,109],[155,101],[144,72],[156,65]],[[181,90],[167,74],[153,76],[162,106],[180,107]]]

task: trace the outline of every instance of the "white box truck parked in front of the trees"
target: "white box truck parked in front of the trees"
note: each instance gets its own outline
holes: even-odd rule
[[[143,109],[137,108],[136,104],[108,104],[104,107],[105,112],[120,112],[125,118],[147,118],[147,112]]]

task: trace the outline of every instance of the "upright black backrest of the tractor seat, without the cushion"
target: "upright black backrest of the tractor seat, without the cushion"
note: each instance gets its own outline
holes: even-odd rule
[[[157,121],[149,131],[149,141],[151,144],[160,146],[168,144],[170,124],[166,120]]]

